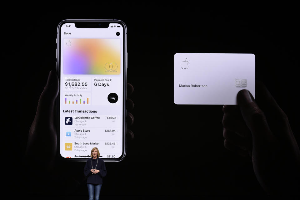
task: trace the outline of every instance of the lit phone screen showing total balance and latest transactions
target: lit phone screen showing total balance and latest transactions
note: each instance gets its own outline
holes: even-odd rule
[[[118,160],[125,154],[126,30],[118,22],[107,28],[75,25],[63,23],[58,33],[60,154],[87,159],[97,147],[100,158]]]

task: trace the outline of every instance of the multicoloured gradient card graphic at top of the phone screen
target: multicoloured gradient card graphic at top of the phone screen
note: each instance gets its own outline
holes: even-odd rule
[[[121,73],[120,39],[64,38],[63,41],[63,74]]]

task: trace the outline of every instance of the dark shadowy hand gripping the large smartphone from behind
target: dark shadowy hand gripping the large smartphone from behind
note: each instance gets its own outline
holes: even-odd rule
[[[133,92],[133,86],[127,83],[130,95]],[[58,95],[59,82],[55,71],[50,71],[46,86],[40,95],[37,112],[29,130],[24,162],[30,169],[37,164],[47,166],[47,170],[53,167],[54,159],[57,152],[57,133],[54,127],[54,103]],[[126,102],[129,110],[133,109],[133,101],[127,99]],[[134,118],[127,118],[128,125],[132,125]],[[133,138],[133,132],[127,129],[127,137]],[[43,144],[41,147],[40,144]],[[47,156],[43,149],[47,149]],[[29,166],[28,166],[29,165]],[[34,173],[39,174],[44,168],[34,168]],[[34,174],[32,174],[34,177]]]

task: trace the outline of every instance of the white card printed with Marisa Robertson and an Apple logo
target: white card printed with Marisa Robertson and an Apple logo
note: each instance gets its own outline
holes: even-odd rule
[[[176,53],[174,103],[236,105],[247,89],[255,98],[255,55],[242,53]]]

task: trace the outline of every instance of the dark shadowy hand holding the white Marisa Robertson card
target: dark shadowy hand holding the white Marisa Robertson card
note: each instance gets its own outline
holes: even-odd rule
[[[238,105],[223,107],[224,146],[249,154],[267,193],[299,194],[300,151],[287,115],[260,81],[256,96],[257,101],[248,90],[241,90]]]

